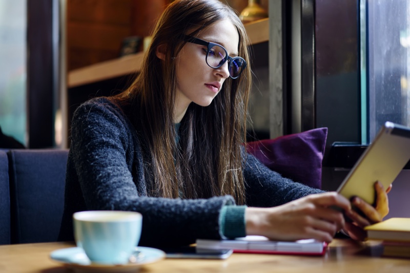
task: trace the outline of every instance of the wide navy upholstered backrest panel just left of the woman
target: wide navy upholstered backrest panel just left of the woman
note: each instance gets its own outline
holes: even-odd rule
[[[11,243],[55,242],[68,150],[10,150]]]

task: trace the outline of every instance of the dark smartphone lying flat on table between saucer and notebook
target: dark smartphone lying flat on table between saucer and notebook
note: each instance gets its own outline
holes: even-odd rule
[[[195,246],[164,247],[160,249],[166,253],[166,258],[177,259],[227,259],[233,252],[232,249],[201,249]]]

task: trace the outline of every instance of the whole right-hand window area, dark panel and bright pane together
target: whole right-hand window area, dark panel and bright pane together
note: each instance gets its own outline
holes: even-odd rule
[[[367,145],[385,121],[410,126],[410,4],[316,0],[316,127]],[[303,54],[303,53],[302,53]]]

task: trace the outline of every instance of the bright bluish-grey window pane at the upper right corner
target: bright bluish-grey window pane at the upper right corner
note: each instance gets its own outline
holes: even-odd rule
[[[361,4],[360,9],[363,14],[366,6]],[[410,4],[408,0],[367,1],[366,11],[368,23],[361,24],[361,33],[367,31],[368,37],[371,141],[385,121],[410,126]]]

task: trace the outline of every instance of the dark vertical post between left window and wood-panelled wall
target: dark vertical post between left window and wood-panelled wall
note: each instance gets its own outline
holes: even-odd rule
[[[58,1],[27,1],[28,146],[34,149],[54,145],[54,5]]]

